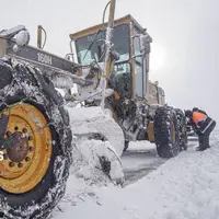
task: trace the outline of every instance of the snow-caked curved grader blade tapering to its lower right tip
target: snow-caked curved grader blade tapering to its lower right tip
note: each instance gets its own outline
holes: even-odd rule
[[[68,108],[77,149],[93,168],[102,169],[114,182],[123,182],[120,155],[124,132],[108,110],[100,106]],[[96,142],[97,141],[97,142]],[[110,163],[110,169],[106,165]]]

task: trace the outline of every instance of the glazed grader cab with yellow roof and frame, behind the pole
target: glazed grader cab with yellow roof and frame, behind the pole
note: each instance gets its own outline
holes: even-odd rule
[[[104,60],[106,26],[107,23],[99,24],[70,34],[80,65]],[[113,48],[119,59],[115,61],[108,85],[120,97],[147,99],[150,43],[152,38],[131,15],[114,21]]]

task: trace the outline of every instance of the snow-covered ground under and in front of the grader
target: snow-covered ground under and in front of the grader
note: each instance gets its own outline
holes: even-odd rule
[[[210,149],[197,152],[196,143],[165,162],[154,154],[153,145],[149,150],[142,142],[132,143],[123,157],[124,188],[89,185],[70,175],[53,219],[218,219],[219,131],[212,134]]]

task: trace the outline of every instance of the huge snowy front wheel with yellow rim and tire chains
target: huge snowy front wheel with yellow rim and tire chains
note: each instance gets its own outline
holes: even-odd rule
[[[7,135],[28,134],[23,153],[16,145],[3,150],[0,217],[46,219],[65,194],[72,162],[64,100],[38,69],[11,59],[0,59],[0,114],[10,115]]]

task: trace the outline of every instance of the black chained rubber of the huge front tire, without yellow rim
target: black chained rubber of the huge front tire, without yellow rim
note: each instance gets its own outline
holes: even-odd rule
[[[7,219],[47,219],[65,195],[72,163],[72,134],[64,100],[38,69],[14,62],[14,59],[0,59],[0,111],[5,104],[19,102],[39,110],[51,123],[48,127],[53,138],[50,163],[41,183],[18,195],[0,188],[0,214]]]

